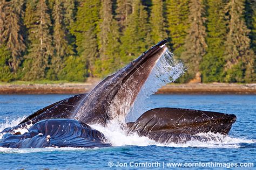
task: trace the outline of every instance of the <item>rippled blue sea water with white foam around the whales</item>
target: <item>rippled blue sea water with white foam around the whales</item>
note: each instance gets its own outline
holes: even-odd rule
[[[32,112],[70,96],[0,95],[0,131],[17,125]],[[252,166],[249,163],[256,166],[256,95],[153,95],[143,107],[219,111],[237,115],[237,122],[233,124],[228,136],[207,133],[202,135],[214,139],[207,142],[188,141],[185,144],[168,145],[158,144],[136,134],[125,136],[114,123],[107,128],[92,125],[102,131],[114,146],[93,149],[0,147],[0,168],[161,169],[175,166],[208,168],[217,165],[232,168]]]

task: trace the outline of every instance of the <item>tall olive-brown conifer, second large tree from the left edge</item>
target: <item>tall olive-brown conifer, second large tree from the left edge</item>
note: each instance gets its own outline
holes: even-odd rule
[[[27,56],[25,68],[28,72],[25,74],[25,80],[45,79],[49,60],[53,55],[52,36],[50,34],[51,20],[49,9],[45,0],[31,1],[29,9],[26,11],[26,24],[29,27],[30,49]],[[32,18],[30,13],[34,12]]]

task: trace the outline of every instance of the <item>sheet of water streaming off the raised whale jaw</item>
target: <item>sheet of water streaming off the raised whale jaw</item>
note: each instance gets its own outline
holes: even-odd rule
[[[134,122],[137,118],[147,111],[150,96],[167,83],[171,83],[185,73],[183,62],[177,60],[173,53],[168,49],[161,55],[152,69],[146,82],[139,91],[134,104],[126,114],[126,122]]]

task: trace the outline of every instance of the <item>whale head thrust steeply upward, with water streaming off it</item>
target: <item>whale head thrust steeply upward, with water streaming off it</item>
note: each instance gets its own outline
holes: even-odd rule
[[[166,52],[166,42],[158,42],[136,60],[107,76],[84,98],[74,118],[89,124],[105,124],[114,117],[124,117],[157,61]]]

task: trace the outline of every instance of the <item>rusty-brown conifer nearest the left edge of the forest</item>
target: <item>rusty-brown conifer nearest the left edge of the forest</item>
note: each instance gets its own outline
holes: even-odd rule
[[[5,2],[4,6],[4,31],[3,38],[6,47],[11,52],[9,65],[16,73],[22,60],[22,52],[25,51],[25,44],[22,37],[22,16],[24,0],[13,0]]]

